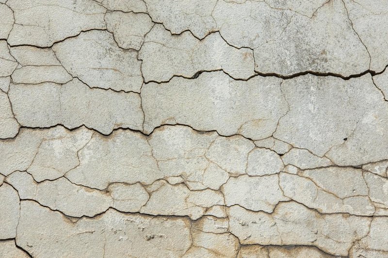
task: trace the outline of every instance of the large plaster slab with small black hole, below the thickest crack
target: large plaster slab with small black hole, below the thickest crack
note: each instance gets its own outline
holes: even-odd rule
[[[338,165],[358,165],[387,157],[388,103],[370,75],[348,81],[299,76],[282,83],[290,111],[274,136]]]

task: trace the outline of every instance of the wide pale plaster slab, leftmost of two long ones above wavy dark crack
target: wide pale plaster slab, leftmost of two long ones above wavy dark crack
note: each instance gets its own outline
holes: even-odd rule
[[[23,126],[62,124],[77,128],[84,125],[104,134],[119,127],[142,129],[143,112],[136,93],[91,89],[73,79],[63,85],[49,82],[12,84],[8,95],[15,117]]]

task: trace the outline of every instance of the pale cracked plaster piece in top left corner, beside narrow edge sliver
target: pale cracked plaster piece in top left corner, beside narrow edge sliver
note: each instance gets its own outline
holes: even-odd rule
[[[94,0],[9,0],[15,24],[8,43],[49,47],[82,31],[105,29],[106,9]]]

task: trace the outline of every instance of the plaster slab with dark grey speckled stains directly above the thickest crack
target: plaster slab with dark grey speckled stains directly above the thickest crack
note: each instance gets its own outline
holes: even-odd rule
[[[341,0],[327,2],[311,18],[293,15],[278,38],[254,52],[256,71],[285,76],[313,71],[346,77],[368,70],[370,63]]]

